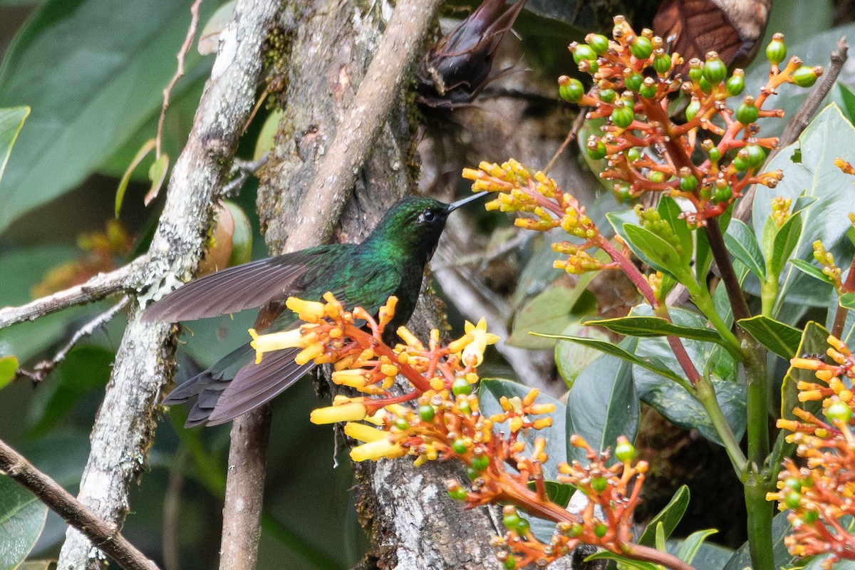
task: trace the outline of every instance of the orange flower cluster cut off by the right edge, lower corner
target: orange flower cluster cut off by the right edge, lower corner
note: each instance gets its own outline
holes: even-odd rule
[[[785,539],[793,555],[831,556],[823,561],[828,570],[835,561],[855,560],[855,534],[848,520],[855,515],[855,437],[852,434],[852,381],[855,356],[838,338],[828,337],[828,358],[799,357],[793,367],[814,371],[818,382],[799,382],[799,401],[822,403],[824,419],[811,411],[795,408],[795,420],[778,420],[778,427],[792,434],[787,442],[805,467],[786,459],[778,479],[778,491],[769,501],[779,502],[793,532]],[[846,379],[846,380],[845,380]],[[806,408],[807,406],[805,406]]]

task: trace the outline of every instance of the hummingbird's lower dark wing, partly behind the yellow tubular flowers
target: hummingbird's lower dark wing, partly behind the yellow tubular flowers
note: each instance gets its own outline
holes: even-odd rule
[[[207,424],[216,426],[255,409],[285,391],[315,367],[315,362],[299,365],[294,361],[300,349],[277,350],[241,368],[219,395]]]

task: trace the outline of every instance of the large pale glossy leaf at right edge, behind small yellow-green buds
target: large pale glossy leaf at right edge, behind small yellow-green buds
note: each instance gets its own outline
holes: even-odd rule
[[[774,194],[758,191],[755,197],[753,226],[758,240],[762,241],[764,226],[771,214],[771,197],[790,197],[796,203],[804,194],[805,197],[816,198],[817,202],[801,214],[804,231],[800,232],[794,244],[793,257],[809,259],[812,244],[817,239],[823,241],[826,249],[834,250],[852,226],[847,216],[848,209],[841,208],[840,204],[849,201],[853,179],[834,166],[834,160],[838,157],[855,162],[855,128],[837,106],[829,105],[805,129],[797,143],[782,149],[769,162],[767,169],[780,168],[784,178],[775,187]],[[781,251],[788,242],[789,237],[781,237]],[[778,246],[775,243],[776,250]],[[781,310],[781,300],[790,297],[790,290],[803,279],[804,273],[796,267],[788,265],[783,268],[776,313]],[[787,300],[794,301],[792,298]]]

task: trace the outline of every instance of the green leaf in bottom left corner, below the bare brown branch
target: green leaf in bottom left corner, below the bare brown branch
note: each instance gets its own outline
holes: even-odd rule
[[[47,515],[35,495],[0,474],[0,568],[15,568],[27,558]]]

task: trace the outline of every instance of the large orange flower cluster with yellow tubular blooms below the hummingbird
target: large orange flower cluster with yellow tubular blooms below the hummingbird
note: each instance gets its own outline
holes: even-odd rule
[[[465,334],[449,344],[432,331],[425,345],[405,327],[402,342],[385,344],[383,330],[392,320],[396,300],[391,297],[374,319],[363,309],[345,310],[331,293],[323,303],[289,298],[287,306],[304,325],[287,332],[259,335],[251,331],[252,346],[262,359],[271,350],[299,348],[295,360],[333,363],[333,382],[363,392],[365,396],[337,396],[333,406],[315,409],[315,423],[345,421],[344,431],[358,444],[354,461],[412,455],[416,465],[426,461],[461,461],[469,483],[451,479],[446,489],[467,508],[487,503],[504,505],[504,536],[493,540],[506,568],[535,563],[544,567],[586,543],[643,560],[674,559],[668,553],[632,544],[634,508],[639,502],[647,464],[635,462],[635,450],[626,438],[610,450],[594,451],[581,437],[570,443],[587,451],[587,462],[560,463],[552,479],[573,485],[585,494],[587,506],[579,514],[554,502],[545,473],[549,460],[546,439],[535,434],[552,425],[553,403],[539,402],[533,389],[522,397],[498,399],[500,411],[481,414],[473,385],[476,367],[486,346],[498,340],[486,332],[483,320],[468,323]],[[390,390],[395,377],[410,389]],[[415,401],[415,407],[403,405]],[[527,516],[557,523],[548,542],[530,531]]]

